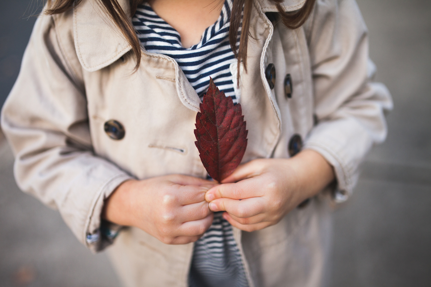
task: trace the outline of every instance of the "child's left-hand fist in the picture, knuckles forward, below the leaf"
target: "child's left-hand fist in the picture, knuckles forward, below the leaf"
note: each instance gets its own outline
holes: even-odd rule
[[[195,242],[213,222],[205,193],[215,185],[183,175],[129,180],[105,201],[102,217],[138,227],[166,244]]]

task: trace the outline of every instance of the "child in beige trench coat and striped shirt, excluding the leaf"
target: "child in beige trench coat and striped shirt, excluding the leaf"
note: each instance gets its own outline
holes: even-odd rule
[[[330,201],[392,106],[367,46],[353,0],[48,1],[1,113],[16,180],[125,286],[321,286]],[[221,185],[194,144],[210,76],[248,129]]]

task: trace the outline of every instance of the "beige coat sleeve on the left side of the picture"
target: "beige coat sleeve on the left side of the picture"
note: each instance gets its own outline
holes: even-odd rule
[[[58,209],[78,239],[97,251],[107,245],[100,234],[104,199],[131,177],[92,151],[82,72],[65,58],[54,19],[36,21],[1,127],[19,188]]]

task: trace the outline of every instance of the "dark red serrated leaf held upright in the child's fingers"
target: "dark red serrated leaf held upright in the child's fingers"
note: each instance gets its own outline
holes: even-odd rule
[[[229,176],[241,162],[247,133],[241,105],[210,79],[210,87],[196,115],[195,136],[199,156],[208,174],[217,182]]]

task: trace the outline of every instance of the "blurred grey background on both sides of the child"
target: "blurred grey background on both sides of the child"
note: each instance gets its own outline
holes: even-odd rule
[[[331,287],[431,286],[431,1],[357,0],[377,80],[395,109],[353,197],[334,213]],[[0,0],[0,106],[17,77],[37,0]],[[0,287],[118,287],[60,215],[16,187],[0,132]]]

